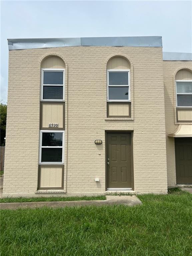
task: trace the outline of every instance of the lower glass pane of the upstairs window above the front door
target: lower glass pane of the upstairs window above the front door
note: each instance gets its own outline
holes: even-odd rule
[[[109,100],[128,100],[129,87],[109,87]]]

